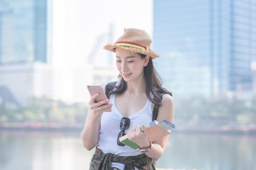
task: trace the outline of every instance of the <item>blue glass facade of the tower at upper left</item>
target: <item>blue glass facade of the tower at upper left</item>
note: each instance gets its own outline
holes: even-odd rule
[[[47,0],[6,0],[0,15],[0,64],[47,62]]]

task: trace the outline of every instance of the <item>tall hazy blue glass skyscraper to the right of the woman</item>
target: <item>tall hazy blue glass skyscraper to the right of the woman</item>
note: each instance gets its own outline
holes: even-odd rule
[[[154,0],[153,48],[176,97],[253,90],[254,0]]]

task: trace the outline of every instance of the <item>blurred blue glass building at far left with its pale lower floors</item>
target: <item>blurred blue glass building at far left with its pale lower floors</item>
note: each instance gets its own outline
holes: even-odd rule
[[[47,11],[47,0],[0,0],[3,102],[23,105],[32,96],[52,95]]]

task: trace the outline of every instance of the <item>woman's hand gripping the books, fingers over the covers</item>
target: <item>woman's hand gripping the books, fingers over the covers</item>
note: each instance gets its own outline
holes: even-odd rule
[[[149,146],[148,136],[149,131],[146,126],[142,125],[143,131],[140,131],[140,126],[136,125],[130,128],[128,131],[128,138],[130,141],[136,143],[141,148],[147,148]]]

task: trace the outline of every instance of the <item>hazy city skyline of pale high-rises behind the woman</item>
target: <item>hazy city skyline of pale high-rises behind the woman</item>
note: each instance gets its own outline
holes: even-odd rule
[[[0,25],[0,85],[21,103],[43,95],[86,102],[87,84],[116,81],[114,54],[102,47],[113,43],[125,27],[146,30],[152,37],[151,48],[161,55],[154,60],[156,69],[164,87],[177,98],[255,91],[253,1],[166,0],[150,1],[146,6],[142,1],[136,9],[145,7],[144,16],[140,15],[147,18],[144,22],[125,13],[110,17],[115,11],[88,17],[96,13],[87,1],[1,2],[9,12],[2,15],[4,24]],[[104,5],[98,8],[106,10]]]

